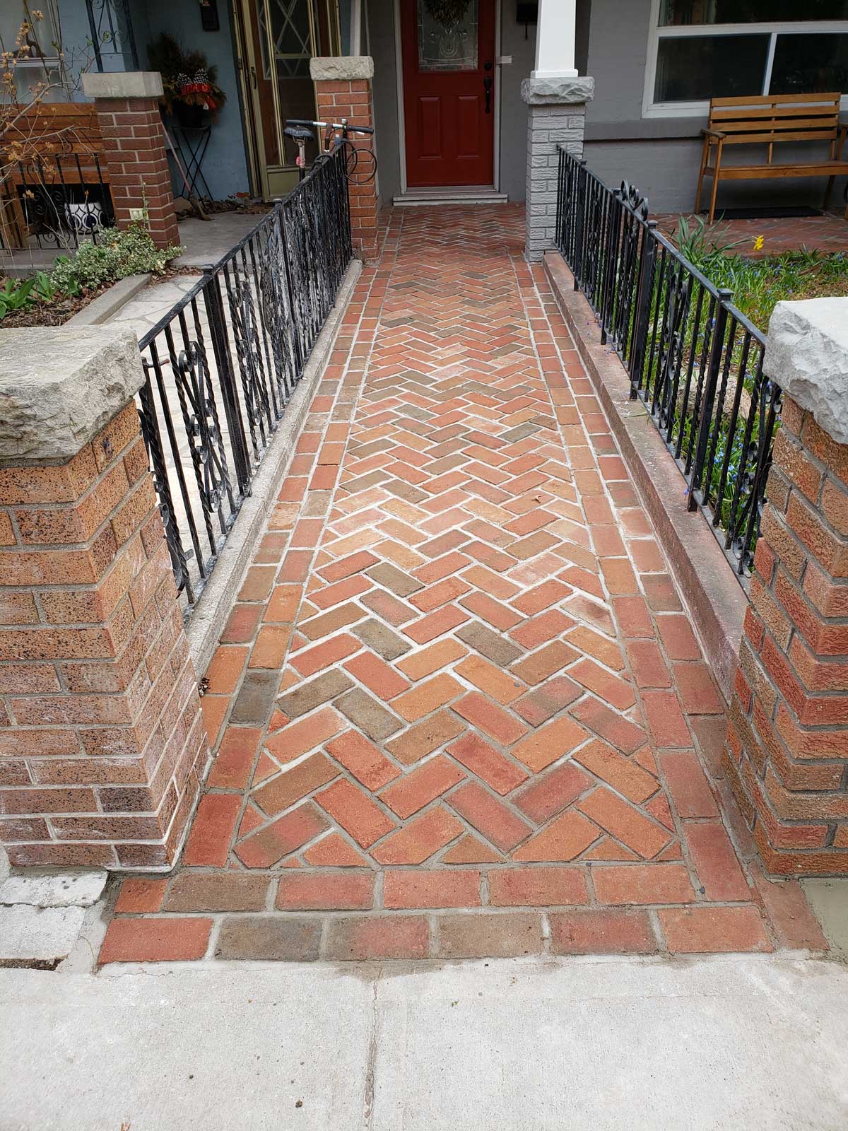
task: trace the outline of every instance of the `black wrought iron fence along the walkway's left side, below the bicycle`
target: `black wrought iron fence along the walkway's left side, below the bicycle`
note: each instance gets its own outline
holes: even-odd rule
[[[141,431],[187,612],[250,494],[352,257],[336,150],[139,343]]]

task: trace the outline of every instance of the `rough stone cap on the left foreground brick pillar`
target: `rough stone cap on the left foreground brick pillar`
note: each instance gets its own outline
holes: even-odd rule
[[[64,464],[127,405],[145,375],[132,330],[0,333],[0,464]]]

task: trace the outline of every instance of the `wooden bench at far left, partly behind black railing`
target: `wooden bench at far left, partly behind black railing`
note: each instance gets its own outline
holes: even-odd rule
[[[109,166],[94,103],[57,102],[28,106],[0,136],[0,241],[25,248],[29,230],[19,190],[57,185],[109,185]]]

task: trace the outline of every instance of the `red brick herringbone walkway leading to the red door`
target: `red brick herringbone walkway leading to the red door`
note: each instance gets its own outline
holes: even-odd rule
[[[204,698],[180,867],[101,961],[824,947],[522,210],[390,217]],[[730,582],[735,584],[735,582]]]

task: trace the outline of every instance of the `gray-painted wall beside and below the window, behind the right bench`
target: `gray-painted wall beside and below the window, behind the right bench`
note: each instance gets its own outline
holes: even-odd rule
[[[586,0],[583,0],[586,2]],[[682,211],[694,206],[701,158],[703,118],[642,118],[648,59],[650,0],[591,0],[587,74],[595,79],[595,100],[586,115],[585,155],[607,184],[637,184],[651,211]],[[827,146],[784,146],[778,161],[814,161]],[[764,159],[764,146],[734,147],[727,164]],[[833,202],[841,200],[845,180]],[[707,191],[711,182],[707,181]],[[824,179],[722,182],[718,206],[746,207],[806,204],[820,207]],[[706,204],[702,200],[702,206]]]

